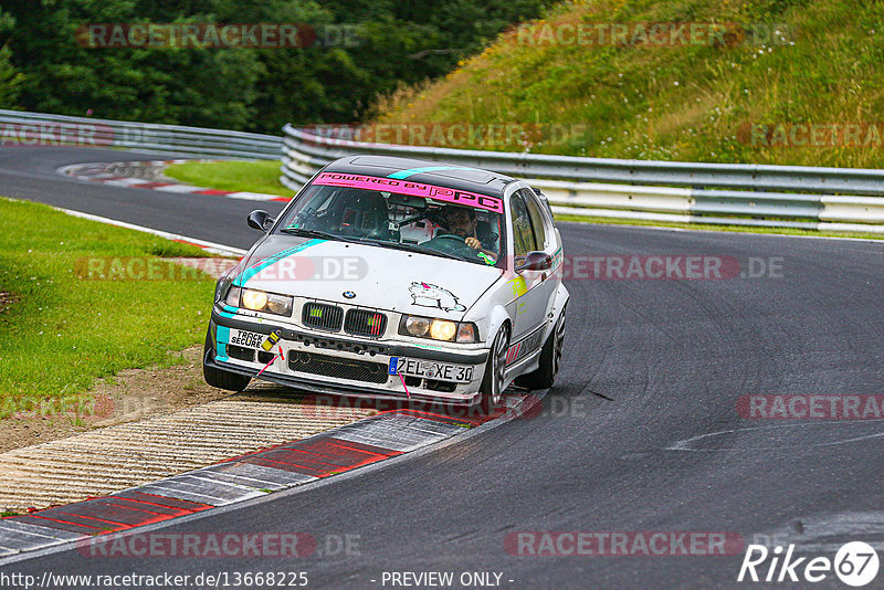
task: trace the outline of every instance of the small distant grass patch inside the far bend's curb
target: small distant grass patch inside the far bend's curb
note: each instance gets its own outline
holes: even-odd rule
[[[234,192],[260,192],[292,197],[294,191],[280,183],[278,160],[229,160],[173,164],[164,173],[188,185]]]

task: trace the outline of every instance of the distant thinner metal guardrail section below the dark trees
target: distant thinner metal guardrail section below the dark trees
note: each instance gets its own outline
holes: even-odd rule
[[[201,158],[280,158],[282,137],[0,109],[0,145],[116,147]]]

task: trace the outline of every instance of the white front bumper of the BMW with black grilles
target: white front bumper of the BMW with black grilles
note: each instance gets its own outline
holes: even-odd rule
[[[262,355],[255,355],[255,358],[251,361],[235,358],[233,354],[229,354],[231,329],[262,335],[278,330],[282,338],[276,346],[282,347],[284,359],[276,357],[261,373],[260,379],[266,379],[285,387],[313,393],[472,403],[478,396],[480,384],[484,377],[485,362],[488,358],[488,350],[484,348],[452,349],[452,347],[436,346],[436,343],[428,344],[425,345],[427,348],[424,348],[423,346],[391,341],[389,339],[376,340],[345,336],[343,334],[330,335],[276,323],[266,318],[236,315],[218,307],[213,308],[209,330],[212,346],[207,350],[203,362],[225,371],[250,377],[256,377],[269,361],[267,357],[272,357],[272,355],[265,354],[263,358]],[[276,350],[276,347],[274,347],[274,350]],[[304,357],[339,361],[343,367],[350,364],[356,370],[344,371],[344,373],[348,372],[349,375],[336,376],[317,375],[311,370],[297,370],[302,367],[311,367],[296,361]],[[464,383],[444,379],[400,377],[396,373],[391,375],[387,370],[393,358],[412,358],[469,366],[472,367],[473,376],[469,382]],[[383,367],[382,372],[380,372],[381,366]],[[369,367],[372,372],[360,376],[359,369],[365,367]],[[356,376],[356,378],[348,378],[352,376]]]

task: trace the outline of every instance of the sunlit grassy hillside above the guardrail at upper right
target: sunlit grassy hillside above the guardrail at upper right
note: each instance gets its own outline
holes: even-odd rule
[[[611,43],[622,23],[625,42]],[[670,23],[663,36],[672,23],[696,23],[708,41],[642,38],[652,23]],[[587,33],[579,42],[578,25]],[[451,147],[877,168],[884,2],[568,2],[499,35],[445,78],[379,106],[381,123],[480,131],[454,145],[441,138],[443,126],[430,143]],[[481,131],[492,124],[526,133],[518,145],[488,143]]]

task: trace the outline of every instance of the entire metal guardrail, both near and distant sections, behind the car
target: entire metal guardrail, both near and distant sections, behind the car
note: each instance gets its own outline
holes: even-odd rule
[[[292,190],[329,161],[399,156],[525,178],[559,214],[884,233],[884,170],[576,158],[369,144],[291,125],[284,137],[0,109],[0,145],[74,145],[277,159]]]

